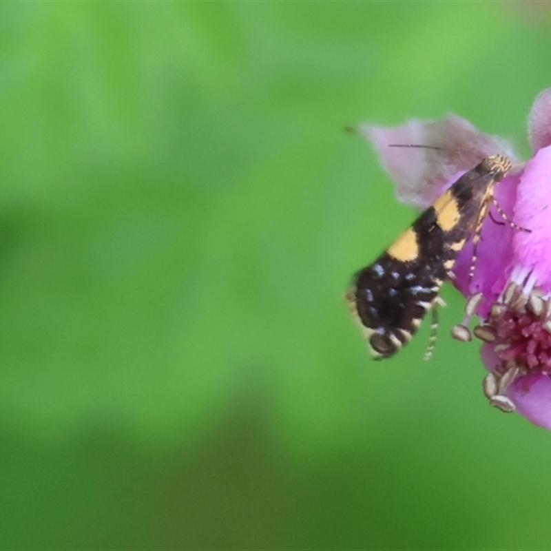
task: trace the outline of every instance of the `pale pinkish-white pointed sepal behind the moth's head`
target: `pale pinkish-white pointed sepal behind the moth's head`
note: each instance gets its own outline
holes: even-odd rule
[[[439,121],[413,120],[396,127],[364,124],[358,131],[373,143],[381,164],[396,183],[398,199],[416,207],[428,207],[461,174],[487,156],[503,153],[514,159],[506,142],[479,132],[455,115]],[[392,144],[439,149],[388,147]]]

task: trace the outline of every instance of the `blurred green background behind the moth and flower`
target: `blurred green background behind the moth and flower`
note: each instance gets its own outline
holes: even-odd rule
[[[528,156],[549,7],[2,3],[0,547],[551,548],[457,293],[431,362],[342,298],[414,215],[344,127]]]

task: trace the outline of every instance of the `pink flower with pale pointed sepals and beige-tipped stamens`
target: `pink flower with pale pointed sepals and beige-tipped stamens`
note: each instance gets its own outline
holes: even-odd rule
[[[532,105],[528,134],[534,155],[522,167],[505,141],[457,116],[358,130],[377,149],[399,200],[417,207],[428,207],[487,156],[506,154],[518,167],[495,187],[499,207],[516,227],[492,206],[481,230],[475,275],[469,278],[472,242],[453,268],[453,283],[468,298],[466,319],[455,335],[470,340],[466,325],[476,314],[479,324],[472,332],[484,342],[483,388],[490,404],[516,409],[551,429],[551,88]]]

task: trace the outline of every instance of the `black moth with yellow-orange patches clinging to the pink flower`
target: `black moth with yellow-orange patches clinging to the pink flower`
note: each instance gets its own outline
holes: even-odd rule
[[[375,358],[396,353],[413,337],[426,313],[435,311],[440,288],[452,277],[459,251],[470,238],[476,247],[490,204],[496,204],[494,187],[511,167],[503,155],[482,160],[373,264],[355,274],[346,298]],[[475,260],[473,256],[470,277]]]

